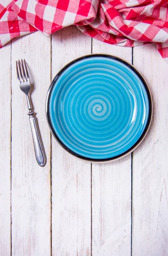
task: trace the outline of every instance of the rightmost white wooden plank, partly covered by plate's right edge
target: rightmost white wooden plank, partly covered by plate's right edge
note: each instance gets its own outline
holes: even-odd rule
[[[133,255],[168,255],[168,65],[154,44],[134,48],[153,98],[151,129],[133,158]]]

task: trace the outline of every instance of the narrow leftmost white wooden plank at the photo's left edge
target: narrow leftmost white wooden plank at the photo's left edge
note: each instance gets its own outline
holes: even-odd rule
[[[11,45],[0,50],[0,256],[11,255]]]

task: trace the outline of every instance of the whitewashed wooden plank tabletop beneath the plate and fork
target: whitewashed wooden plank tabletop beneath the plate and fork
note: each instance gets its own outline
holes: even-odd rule
[[[50,81],[65,64],[90,53],[133,63],[153,97],[146,139],[113,163],[90,164],[68,154],[45,117]],[[26,98],[17,83],[20,58],[31,69],[45,168],[35,160]],[[0,256],[168,256],[166,118],[168,65],[154,44],[116,47],[72,26],[0,49]]]

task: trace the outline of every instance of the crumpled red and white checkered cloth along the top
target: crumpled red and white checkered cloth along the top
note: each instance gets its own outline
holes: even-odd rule
[[[72,24],[108,44],[154,42],[168,63],[167,0],[0,0],[0,47],[20,35],[50,35]]]

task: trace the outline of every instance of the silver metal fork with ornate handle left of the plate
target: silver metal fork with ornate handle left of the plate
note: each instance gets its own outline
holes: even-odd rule
[[[26,66],[25,60],[20,60],[16,61],[16,68],[17,68],[17,79],[20,85],[20,90],[25,93],[27,102],[28,102],[28,115],[29,115],[29,121],[31,125],[31,132],[33,135],[33,142],[34,142],[34,151],[36,155],[36,160],[37,163],[40,166],[45,166],[46,164],[46,156],[45,156],[45,151],[44,147],[42,145],[42,139],[39,133],[39,127],[37,124],[36,117],[34,116],[34,111],[31,105],[31,100],[29,96],[29,91],[31,88],[29,76],[28,76],[28,69]]]

